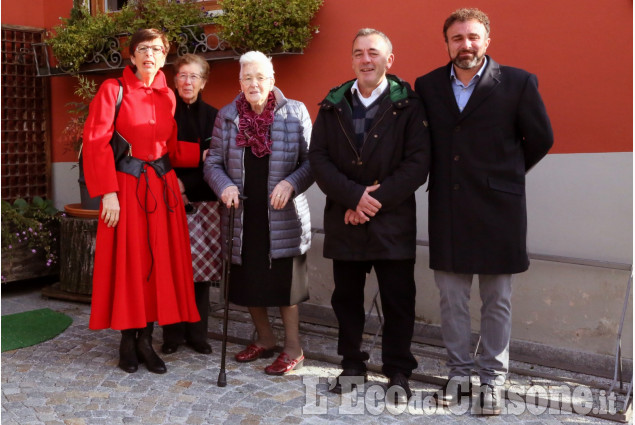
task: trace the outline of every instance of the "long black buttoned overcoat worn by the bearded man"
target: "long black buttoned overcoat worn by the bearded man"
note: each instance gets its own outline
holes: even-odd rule
[[[538,80],[488,57],[459,112],[450,66],[415,83],[432,137],[430,267],[474,274],[525,271],[525,174],[553,144]]]

